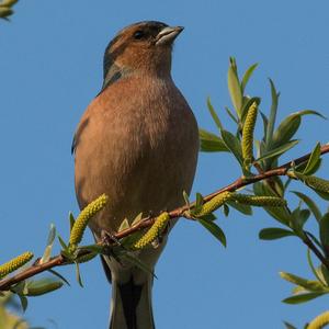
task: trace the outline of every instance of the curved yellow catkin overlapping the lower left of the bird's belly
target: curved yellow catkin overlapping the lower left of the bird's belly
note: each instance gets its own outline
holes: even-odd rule
[[[77,246],[81,242],[88,222],[105,206],[107,198],[107,195],[102,194],[81,211],[71,229],[70,246]]]

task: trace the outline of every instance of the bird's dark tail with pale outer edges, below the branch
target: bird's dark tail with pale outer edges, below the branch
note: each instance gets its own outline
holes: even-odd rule
[[[110,329],[155,329],[151,288],[151,276],[141,284],[112,277]]]

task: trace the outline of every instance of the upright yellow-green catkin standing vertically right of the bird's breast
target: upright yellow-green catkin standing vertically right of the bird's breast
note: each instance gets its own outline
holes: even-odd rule
[[[253,102],[248,109],[248,113],[242,128],[242,158],[247,164],[250,163],[253,159],[253,131],[257,114],[257,103]]]

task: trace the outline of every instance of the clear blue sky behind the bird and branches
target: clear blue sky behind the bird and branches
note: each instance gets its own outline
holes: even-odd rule
[[[42,254],[50,223],[67,237],[68,211],[78,213],[71,139],[100,90],[103,50],[117,30],[141,20],[185,26],[174,47],[173,78],[200,126],[215,132],[205,100],[212,97],[228,125],[229,56],[240,69],[260,64],[249,93],[263,98],[264,112],[271,77],[282,92],[280,118],[302,109],[329,114],[328,12],[325,0],[20,1],[12,22],[0,22],[0,262],[25,250]],[[328,141],[328,122],[305,123],[293,156]],[[328,170],[321,173],[328,178]],[[194,192],[207,194],[238,174],[230,156],[201,154]],[[300,306],[281,303],[292,286],[279,271],[311,274],[296,239],[258,240],[259,229],[276,225],[265,213],[231,212],[218,224],[227,249],[188,220],[172,231],[157,266],[157,328],[274,329],[283,328],[282,320],[302,327],[326,309],[327,296]],[[100,262],[81,268],[84,288],[67,268],[60,272],[71,287],[30,298],[25,316],[32,325],[55,328],[53,319],[60,329],[106,328],[110,286]]]

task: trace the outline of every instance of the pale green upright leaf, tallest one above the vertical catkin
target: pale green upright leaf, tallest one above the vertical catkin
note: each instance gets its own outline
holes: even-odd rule
[[[232,57],[229,60],[230,65],[227,73],[228,91],[238,117],[241,117],[242,90],[238,78],[236,60]]]

